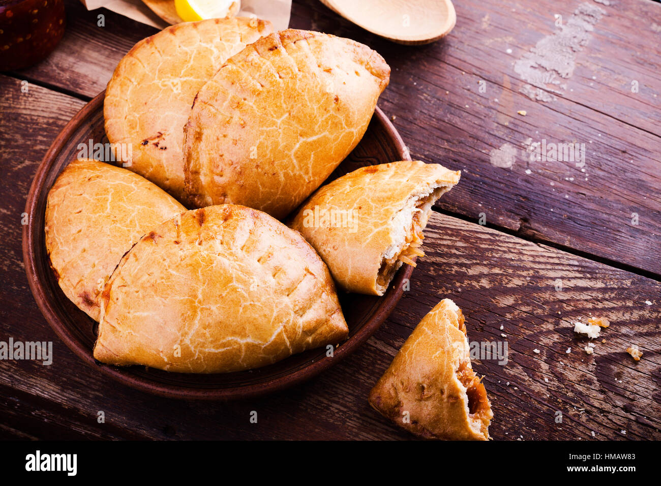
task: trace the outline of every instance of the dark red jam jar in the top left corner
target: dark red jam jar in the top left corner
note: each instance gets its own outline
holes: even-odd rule
[[[0,0],[0,71],[48,56],[64,34],[63,0]]]

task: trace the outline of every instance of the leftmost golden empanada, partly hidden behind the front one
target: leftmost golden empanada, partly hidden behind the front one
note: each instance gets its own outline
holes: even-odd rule
[[[137,174],[90,159],[64,169],[48,192],[46,250],[65,296],[98,321],[104,282],[149,229],[186,210]]]

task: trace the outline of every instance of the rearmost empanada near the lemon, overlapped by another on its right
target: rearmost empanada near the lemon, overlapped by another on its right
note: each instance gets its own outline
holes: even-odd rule
[[[131,147],[132,171],[184,196],[184,125],[221,65],[268,35],[268,21],[236,17],[182,22],[138,42],[117,65],[104,101],[111,143]]]

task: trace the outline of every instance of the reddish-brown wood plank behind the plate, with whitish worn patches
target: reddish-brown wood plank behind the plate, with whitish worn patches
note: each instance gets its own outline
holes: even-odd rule
[[[551,102],[520,92],[527,83],[516,63],[542,56],[530,53],[539,40],[560,30],[555,14],[565,26],[585,22],[585,15],[574,15],[582,3],[543,1],[503,9],[462,2],[456,6],[455,29],[428,46],[392,44],[317,0],[295,1],[291,25],[355,38],[385,56],[393,73],[379,104],[397,117],[395,126],[412,157],[463,171],[463,181],[440,208],[473,220],[484,213],[488,223],[525,239],[661,275],[656,257],[661,248],[661,33],[653,28],[661,24],[661,5],[583,3],[603,14],[593,30],[578,30],[586,45],[575,53],[572,74],[559,78],[566,87],[551,85],[559,91]],[[93,97],[123,54],[155,30],[108,11],[87,12],[75,0],[67,8],[69,28],[61,46],[19,76]],[[97,26],[99,12],[106,15],[105,27]],[[584,167],[574,161],[529,161],[526,147],[542,140],[584,144]],[[515,153],[511,168],[492,165],[499,149]]]

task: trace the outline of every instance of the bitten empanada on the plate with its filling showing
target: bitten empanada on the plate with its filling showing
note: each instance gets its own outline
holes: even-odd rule
[[[423,256],[422,230],[434,202],[461,173],[439,164],[370,165],[323,186],[290,226],[317,250],[338,287],[382,296],[403,263]]]

